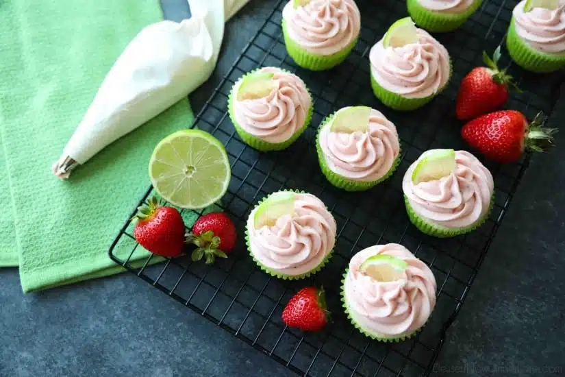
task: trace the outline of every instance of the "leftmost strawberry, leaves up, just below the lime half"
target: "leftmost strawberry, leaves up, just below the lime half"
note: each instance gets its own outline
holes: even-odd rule
[[[137,221],[136,241],[153,254],[178,256],[184,248],[184,221],[175,208],[162,207],[158,199],[149,199],[149,205],[140,206],[134,217]]]

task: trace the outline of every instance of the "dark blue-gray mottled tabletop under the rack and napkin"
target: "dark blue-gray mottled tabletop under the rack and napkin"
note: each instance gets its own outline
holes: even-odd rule
[[[188,14],[183,1],[163,3],[171,19]],[[227,25],[218,69],[191,96],[196,110],[268,12],[253,0]],[[564,149],[533,160],[436,376],[565,373],[564,186]],[[29,295],[16,269],[0,269],[0,282],[1,377],[294,375],[130,274]]]

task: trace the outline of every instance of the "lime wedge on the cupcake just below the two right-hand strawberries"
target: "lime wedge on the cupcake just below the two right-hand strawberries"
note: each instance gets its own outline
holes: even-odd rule
[[[455,151],[438,149],[420,158],[412,171],[412,182],[418,184],[431,180],[439,180],[455,171]]]

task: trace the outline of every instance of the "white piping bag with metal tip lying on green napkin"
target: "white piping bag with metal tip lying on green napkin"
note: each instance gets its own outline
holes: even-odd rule
[[[53,174],[68,178],[101,149],[208,80],[218,60],[224,22],[247,1],[188,0],[190,19],[160,21],[142,29],[104,78],[53,164]]]

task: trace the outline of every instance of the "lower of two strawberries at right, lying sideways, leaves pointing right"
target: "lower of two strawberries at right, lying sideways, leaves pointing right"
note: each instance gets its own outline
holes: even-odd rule
[[[542,144],[551,144],[556,130],[544,128],[540,113],[528,124],[524,115],[515,110],[501,110],[466,123],[461,135],[481,154],[499,162],[516,162],[524,149],[542,151]]]

